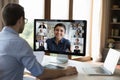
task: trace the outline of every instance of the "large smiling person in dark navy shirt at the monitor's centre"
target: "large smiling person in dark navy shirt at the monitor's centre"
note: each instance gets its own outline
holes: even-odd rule
[[[54,35],[55,37],[47,39],[46,43],[47,43],[47,49],[48,51],[55,51],[55,52],[71,52],[71,44],[70,41],[68,39],[64,38],[66,32],[66,27],[64,24],[62,23],[58,23],[55,25],[54,27]],[[60,57],[61,55],[58,55],[58,57]],[[69,57],[71,58],[71,56],[69,55],[63,55],[61,57]]]

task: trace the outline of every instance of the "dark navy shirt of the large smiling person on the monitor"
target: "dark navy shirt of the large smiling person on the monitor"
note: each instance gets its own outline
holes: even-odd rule
[[[56,44],[55,37],[46,40],[47,49],[49,51],[63,51],[66,52],[70,50],[70,41],[68,39],[62,38],[60,43]]]

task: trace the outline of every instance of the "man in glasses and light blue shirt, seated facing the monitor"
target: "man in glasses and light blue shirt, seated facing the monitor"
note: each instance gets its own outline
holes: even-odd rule
[[[2,18],[5,26],[0,32],[0,80],[23,80],[25,67],[40,80],[77,74],[75,67],[64,70],[44,69],[37,62],[31,47],[19,37],[25,25],[22,6],[14,3],[7,4],[3,8]]]

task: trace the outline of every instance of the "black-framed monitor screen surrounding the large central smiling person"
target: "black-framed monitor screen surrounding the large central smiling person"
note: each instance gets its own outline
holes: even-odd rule
[[[46,40],[54,37],[54,26],[62,23],[66,26],[65,38],[70,41],[72,52],[59,52],[85,56],[86,53],[86,20],[46,20],[34,19],[34,51],[48,51]],[[52,53],[58,53],[52,51]]]

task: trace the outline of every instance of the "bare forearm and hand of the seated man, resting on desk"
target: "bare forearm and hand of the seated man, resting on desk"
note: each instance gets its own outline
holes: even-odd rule
[[[77,74],[75,67],[67,67],[66,69],[45,69],[43,74],[37,76],[40,80],[51,80],[62,76]]]

